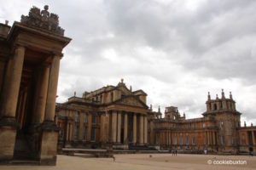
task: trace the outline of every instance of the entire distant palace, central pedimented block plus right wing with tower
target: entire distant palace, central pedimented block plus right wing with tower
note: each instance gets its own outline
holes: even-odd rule
[[[59,148],[85,147],[115,149],[209,150],[211,152],[248,152],[256,150],[256,127],[241,127],[241,113],[230,93],[225,98],[207,96],[207,111],[202,117],[186,119],[177,107],[166,107],[165,117],[146,105],[143,90],[132,91],[123,80],[83,97],[69,98],[56,105]],[[136,146],[136,147],[135,147]]]

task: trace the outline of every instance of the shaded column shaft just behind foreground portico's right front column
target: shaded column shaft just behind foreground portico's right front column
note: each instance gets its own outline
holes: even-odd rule
[[[38,80],[38,95],[36,97],[36,105],[34,114],[34,122],[44,122],[44,111],[46,104],[46,96],[49,82],[49,67],[44,66],[40,73],[40,80]]]

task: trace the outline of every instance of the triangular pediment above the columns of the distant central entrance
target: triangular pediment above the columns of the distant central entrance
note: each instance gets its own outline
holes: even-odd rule
[[[117,100],[115,104],[143,107],[146,109],[148,108],[148,106],[145,105],[143,101],[141,101],[135,96],[125,96],[124,98]]]

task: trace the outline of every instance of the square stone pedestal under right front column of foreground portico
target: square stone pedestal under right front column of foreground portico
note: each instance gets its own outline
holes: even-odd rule
[[[40,165],[55,165],[59,129],[55,122],[44,122],[42,125],[42,140]]]

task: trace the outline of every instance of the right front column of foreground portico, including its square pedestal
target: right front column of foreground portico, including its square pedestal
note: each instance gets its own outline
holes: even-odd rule
[[[41,164],[55,165],[58,142],[58,127],[55,120],[55,99],[57,93],[61,55],[55,55],[52,59],[49,71],[49,83],[45,105],[44,123],[42,126],[40,161]]]

